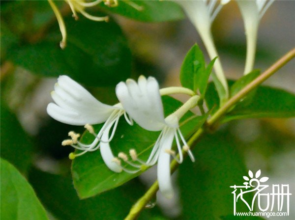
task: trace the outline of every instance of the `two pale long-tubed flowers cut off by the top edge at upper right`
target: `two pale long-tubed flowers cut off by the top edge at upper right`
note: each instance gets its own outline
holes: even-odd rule
[[[174,1],[183,8],[187,17],[199,32],[210,59],[214,59],[218,56],[218,53],[213,41],[211,26],[222,7],[231,0]],[[273,1],[274,0],[236,0],[244,20],[247,40],[244,75],[253,70],[259,22]],[[214,70],[216,77],[213,78],[213,81],[216,85],[221,84],[221,86],[216,86],[216,88],[221,98],[221,104],[223,104],[229,98],[229,89],[220,59],[215,61]]]

